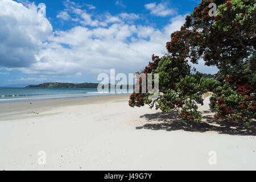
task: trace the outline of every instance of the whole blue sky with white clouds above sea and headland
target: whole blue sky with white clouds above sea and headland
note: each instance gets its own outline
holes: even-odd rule
[[[0,86],[100,82],[163,56],[199,0],[0,0]],[[216,73],[203,61],[193,65]]]

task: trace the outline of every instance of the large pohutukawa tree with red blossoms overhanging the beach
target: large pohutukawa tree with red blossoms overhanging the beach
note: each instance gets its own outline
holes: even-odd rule
[[[203,105],[203,93],[214,91],[211,107],[217,111],[216,119],[243,118],[241,121],[247,123],[255,118],[255,1],[202,0],[193,13],[186,17],[180,31],[171,34],[171,41],[166,44],[168,56],[159,58],[153,55],[152,63],[141,72],[159,73],[159,97],[150,100],[150,93],[133,93],[129,105],[134,107],[148,104],[151,108],[155,106],[167,113],[176,109],[185,121],[200,122],[201,114],[197,111],[197,104]],[[209,16],[210,3],[217,5],[217,16]],[[205,65],[215,65],[220,70],[218,81],[203,78],[199,72],[191,70],[188,61],[197,64],[200,59],[205,61]],[[220,88],[228,89],[226,81],[230,78],[229,73],[238,73],[238,70],[244,82],[238,79],[238,84],[229,84],[232,90],[229,93],[236,94],[241,102],[250,100],[248,103],[246,100],[245,107],[250,107],[249,113],[246,110],[247,114],[244,107],[238,109],[235,97],[223,100],[225,93],[220,92]],[[245,81],[246,76],[249,79]],[[241,93],[240,90],[245,88],[250,91]],[[224,109],[220,109],[219,105]],[[230,115],[231,111],[235,115]]]

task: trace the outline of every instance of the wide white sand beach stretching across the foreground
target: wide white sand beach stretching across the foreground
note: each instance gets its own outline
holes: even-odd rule
[[[0,104],[1,170],[255,170],[255,127],[193,126],[128,95]],[[31,104],[30,104],[31,103]],[[39,164],[39,151],[46,164]],[[216,164],[209,164],[209,152]],[[212,154],[212,153],[210,153]]]

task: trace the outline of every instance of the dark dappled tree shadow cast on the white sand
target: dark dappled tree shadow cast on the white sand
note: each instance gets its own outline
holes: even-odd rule
[[[203,111],[203,121],[201,123],[193,122],[186,123],[182,121],[177,111],[171,113],[155,113],[144,114],[140,118],[146,119],[148,122],[146,125],[136,127],[136,129],[149,129],[149,130],[184,130],[194,132],[207,132],[215,131],[219,134],[229,135],[256,135],[256,122],[251,122],[250,126],[245,126],[240,122],[225,122],[214,121],[213,115],[210,115],[211,111]],[[150,123],[151,122],[151,123]],[[153,123],[154,122],[154,123]]]

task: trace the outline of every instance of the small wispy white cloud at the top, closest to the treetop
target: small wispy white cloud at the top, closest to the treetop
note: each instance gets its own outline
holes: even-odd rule
[[[144,5],[147,10],[150,10],[150,13],[156,16],[167,16],[174,15],[176,11],[174,9],[168,8],[167,3],[149,3]]]

